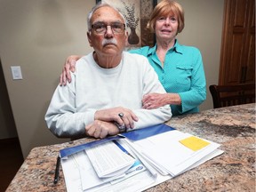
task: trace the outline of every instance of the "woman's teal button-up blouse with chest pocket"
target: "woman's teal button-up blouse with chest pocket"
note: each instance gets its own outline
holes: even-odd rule
[[[180,95],[181,105],[171,105],[172,116],[199,111],[198,106],[206,99],[206,81],[201,52],[196,47],[181,45],[176,40],[166,53],[164,68],[156,55],[156,45],[130,52],[147,57],[165,91]]]

